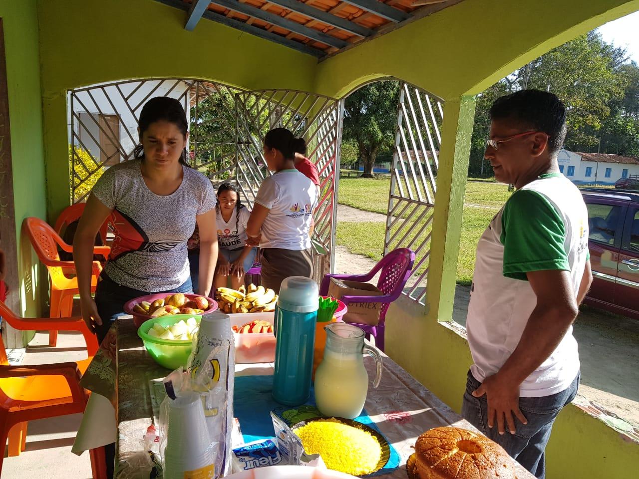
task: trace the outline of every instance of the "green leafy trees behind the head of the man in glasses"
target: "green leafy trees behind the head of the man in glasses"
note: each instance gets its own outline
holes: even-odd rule
[[[639,73],[626,50],[596,31],[550,50],[477,96],[469,174],[485,176],[489,109],[499,96],[524,88],[555,93],[566,105],[566,147],[573,151],[639,151]],[[635,116],[633,116],[633,114]],[[636,153],[635,153],[636,154]]]

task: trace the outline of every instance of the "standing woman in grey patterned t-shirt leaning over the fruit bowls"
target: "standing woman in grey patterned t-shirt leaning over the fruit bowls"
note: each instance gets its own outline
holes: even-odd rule
[[[199,227],[199,289],[208,296],[217,262],[215,190],[187,165],[186,114],[173,98],[152,98],[140,114],[134,158],[104,172],[73,241],[82,317],[102,342],[126,301],[150,293],[191,293],[187,240]],[[110,217],[115,239],[91,298],[91,248]]]

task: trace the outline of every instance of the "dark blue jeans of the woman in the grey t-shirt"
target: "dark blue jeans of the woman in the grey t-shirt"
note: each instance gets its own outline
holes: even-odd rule
[[[98,314],[102,319],[102,326],[98,326],[96,329],[96,336],[98,337],[98,343],[102,344],[102,340],[111,329],[113,321],[118,319],[119,316],[124,316],[125,313],[123,306],[127,301],[138,298],[139,296],[146,296],[147,294],[155,293],[193,293],[191,287],[190,278],[187,279],[184,284],[176,287],[176,289],[170,289],[169,291],[139,291],[130,287],[119,285],[114,282],[107,275],[102,273],[98,278],[98,286],[95,290],[95,305],[98,308]]]

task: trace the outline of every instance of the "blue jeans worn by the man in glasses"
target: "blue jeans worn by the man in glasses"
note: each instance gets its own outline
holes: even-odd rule
[[[581,374],[577,374],[573,383],[564,391],[544,397],[520,397],[520,410],[528,420],[522,424],[515,418],[515,434],[506,430],[502,435],[497,423],[488,427],[488,402],[486,395],[474,397],[472,392],[481,383],[468,371],[466,392],[461,406],[461,416],[479,429],[486,437],[502,446],[513,459],[528,469],[538,479],[546,477],[544,449],[550,439],[555,418],[564,406],[577,394]]]

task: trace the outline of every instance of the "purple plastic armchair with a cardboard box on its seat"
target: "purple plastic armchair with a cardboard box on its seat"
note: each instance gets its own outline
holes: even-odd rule
[[[348,306],[349,303],[382,303],[380,323],[377,326],[357,323],[351,324],[362,328],[368,340],[373,336],[375,338],[375,346],[383,351],[386,312],[389,309],[390,303],[399,298],[399,295],[403,291],[404,285],[406,285],[408,278],[410,278],[413,262],[415,262],[415,253],[413,253],[412,250],[408,248],[397,248],[385,255],[385,257],[375,265],[373,270],[365,275],[326,275],[321,282],[319,294],[321,296],[327,295],[330,278],[367,282],[381,270],[377,287],[384,293],[383,296],[342,296],[340,299],[346,306]]]

